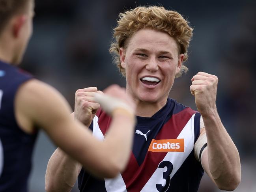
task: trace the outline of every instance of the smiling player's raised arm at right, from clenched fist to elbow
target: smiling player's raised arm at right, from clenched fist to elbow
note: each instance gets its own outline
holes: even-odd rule
[[[196,107],[202,115],[207,136],[207,150],[201,163],[213,182],[222,190],[234,190],[241,181],[237,148],[220,121],[216,107],[217,76],[199,72],[190,86]],[[204,134],[202,130],[198,139]]]

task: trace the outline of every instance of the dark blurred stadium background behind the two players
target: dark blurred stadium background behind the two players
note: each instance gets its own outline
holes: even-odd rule
[[[125,86],[108,53],[112,28],[118,13],[145,4],[174,9],[190,21],[189,72],[176,79],[170,97],[196,109],[191,77],[198,71],[219,77],[219,114],[241,156],[242,182],[235,192],[256,191],[255,1],[36,0],[34,35],[21,67],[58,89],[72,107],[79,88]],[[40,132],[30,192],[45,191],[45,170],[55,148]],[[203,177],[199,192],[219,191]],[[72,192],[78,192],[76,186]]]

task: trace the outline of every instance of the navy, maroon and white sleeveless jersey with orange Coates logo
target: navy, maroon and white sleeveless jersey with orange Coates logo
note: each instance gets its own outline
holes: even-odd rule
[[[90,129],[103,140],[111,118],[99,110]],[[121,125],[120,125],[121,126]],[[123,173],[95,179],[81,170],[80,192],[196,192],[204,170],[194,157],[200,134],[200,114],[167,100],[152,117],[137,117],[133,151]]]

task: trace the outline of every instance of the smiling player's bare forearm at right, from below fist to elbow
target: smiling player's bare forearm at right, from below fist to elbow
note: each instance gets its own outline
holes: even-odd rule
[[[241,165],[237,148],[222,125],[217,111],[214,110],[202,117],[207,135],[211,175],[219,188],[232,190],[241,180]]]

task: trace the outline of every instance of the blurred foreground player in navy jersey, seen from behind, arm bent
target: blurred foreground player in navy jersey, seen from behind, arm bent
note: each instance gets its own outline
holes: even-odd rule
[[[0,192],[27,191],[37,128],[93,175],[116,176],[129,160],[133,100],[119,86],[92,95],[90,101],[99,101],[113,118],[109,139],[95,139],[58,91],[14,66],[32,34],[33,16],[34,0],[0,0]]]

